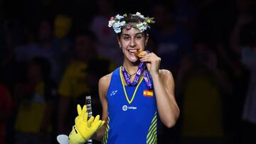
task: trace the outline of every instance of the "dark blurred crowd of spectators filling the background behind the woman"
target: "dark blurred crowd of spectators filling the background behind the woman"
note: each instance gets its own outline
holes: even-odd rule
[[[88,95],[101,115],[97,82],[123,60],[108,20],[137,11],[155,18],[147,50],[174,75],[181,109],[159,143],[256,143],[255,4],[1,0],[0,144],[57,143]]]

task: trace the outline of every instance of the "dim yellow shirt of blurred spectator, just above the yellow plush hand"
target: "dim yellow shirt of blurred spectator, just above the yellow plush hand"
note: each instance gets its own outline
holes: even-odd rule
[[[90,92],[86,82],[87,64],[81,61],[74,61],[65,70],[61,79],[58,93],[61,96],[77,97],[82,93]]]

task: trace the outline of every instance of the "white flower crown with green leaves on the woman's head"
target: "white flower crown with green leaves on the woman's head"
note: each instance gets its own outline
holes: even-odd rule
[[[139,12],[137,12],[136,14],[130,14],[130,16],[138,16],[139,18],[142,18],[143,21],[137,24],[127,23],[123,20],[127,17],[127,13],[125,13],[123,16],[117,14],[117,16],[112,16],[110,18],[108,26],[110,28],[113,27],[115,33],[120,33],[122,31],[122,28],[124,27],[126,27],[127,30],[131,28],[136,28],[139,31],[144,32],[146,28],[150,28],[149,24],[155,23],[154,18],[145,17]]]

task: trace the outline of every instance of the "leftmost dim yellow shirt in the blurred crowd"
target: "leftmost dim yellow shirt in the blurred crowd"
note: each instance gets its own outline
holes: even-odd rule
[[[43,83],[37,84],[35,88],[36,95],[43,98],[43,89]],[[28,133],[38,133],[45,110],[45,102],[34,101],[33,98],[30,101],[23,100],[21,106],[18,108],[18,116],[15,124],[16,130]]]

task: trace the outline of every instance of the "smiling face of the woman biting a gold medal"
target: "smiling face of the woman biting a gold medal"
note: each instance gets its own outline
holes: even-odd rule
[[[123,28],[122,34],[117,39],[119,45],[122,47],[124,57],[130,62],[137,62],[139,59],[134,55],[134,52],[144,50],[144,45],[146,45],[149,35],[145,35],[136,28],[129,30]]]

